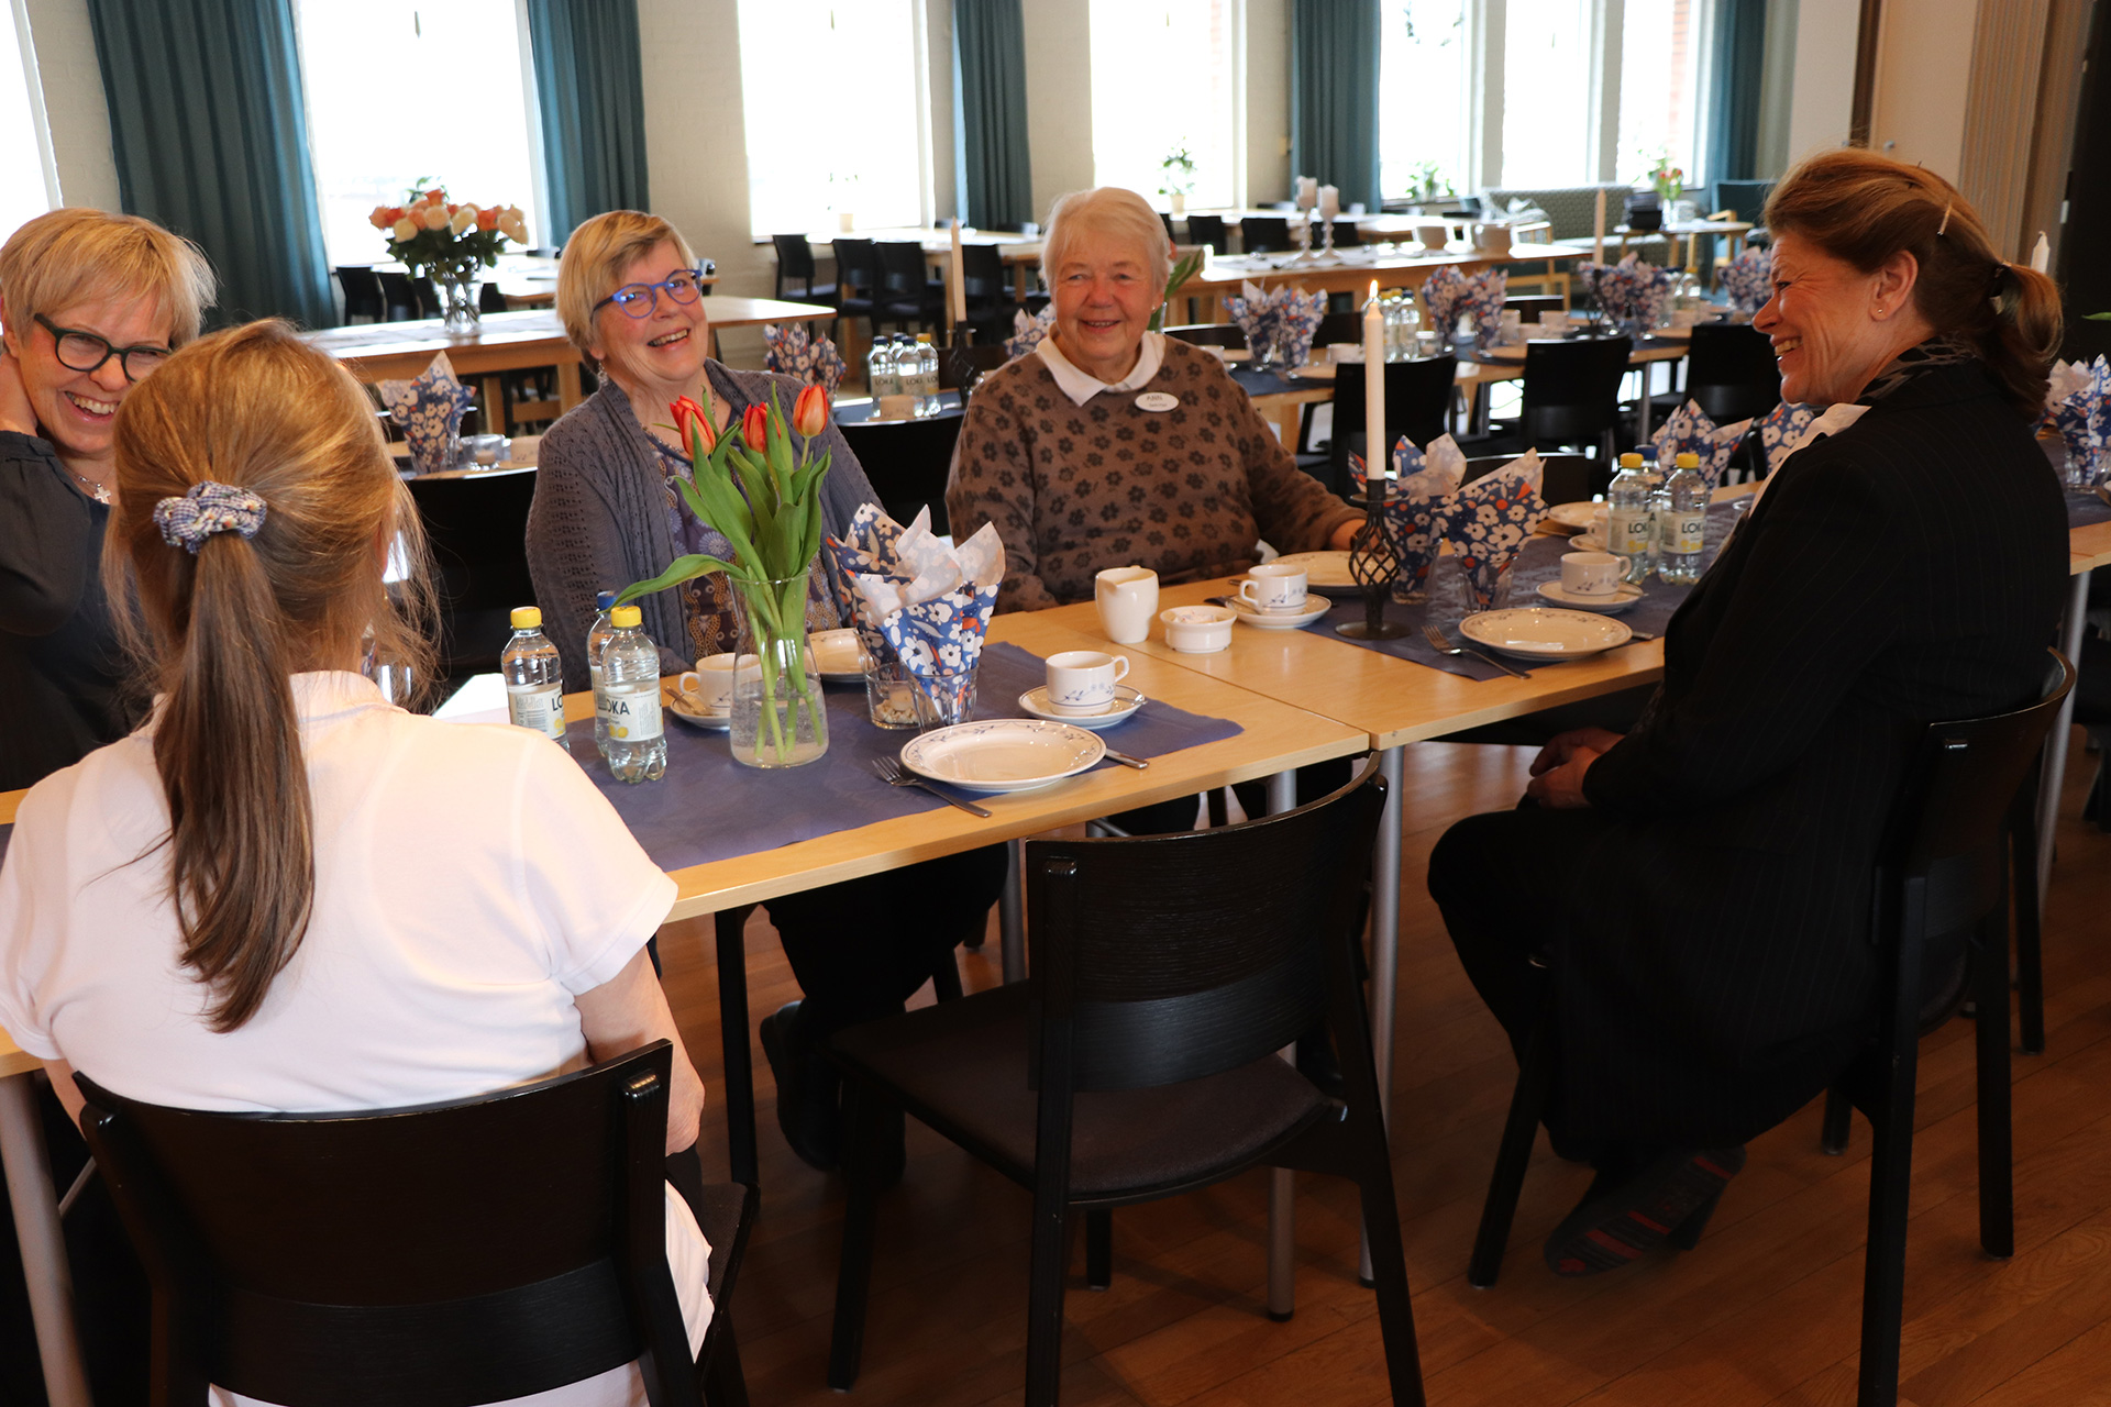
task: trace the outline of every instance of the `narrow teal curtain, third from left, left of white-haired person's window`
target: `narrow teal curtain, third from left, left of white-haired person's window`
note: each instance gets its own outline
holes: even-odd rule
[[[1020,0],[952,0],[952,150],[967,224],[1015,230],[1034,217]]]

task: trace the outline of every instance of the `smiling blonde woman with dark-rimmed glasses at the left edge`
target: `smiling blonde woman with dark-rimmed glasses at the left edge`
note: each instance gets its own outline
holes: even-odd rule
[[[59,209],[0,247],[0,791],[133,721],[97,567],[112,424],[211,302],[196,245],[137,215]]]

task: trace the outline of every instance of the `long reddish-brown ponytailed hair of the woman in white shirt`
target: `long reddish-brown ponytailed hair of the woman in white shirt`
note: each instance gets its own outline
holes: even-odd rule
[[[357,669],[369,635],[376,658],[426,677],[424,542],[365,392],[285,323],[213,333],[139,382],[118,407],[116,481],[103,570],[163,694],[169,899],[211,1027],[232,1032],[293,960],[315,903],[289,677]],[[154,506],[198,483],[262,498],[255,536],[165,542]],[[393,532],[414,563],[397,605],[380,561]]]

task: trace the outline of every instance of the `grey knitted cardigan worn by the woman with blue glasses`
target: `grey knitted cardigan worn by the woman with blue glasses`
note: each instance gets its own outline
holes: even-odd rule
[[[735,426],[749,405],[768,405],[773,384],[787,416],[800,392],[792,375],[735,371],[716,361],[703,367],[711,394],[726,405]],[[842,536],[859,504],[880,496],[834,420],[815,437],[815,454],[821,451],[830,456],[828,479],[821,481],[821,523]],[[661,460],[638,424],[631,399],[606,375],[597,392],[549,428],[538,460],[534,504],[528,508],[528,574],[543,608],[543,633],[564,656],[564,688],[585,690],[593,595],[659,576],[676,559]],[[690,669],[682,656],[688,641],[682,595],[659,591],[640,608],[646,635],[661,648],[661,671]]]

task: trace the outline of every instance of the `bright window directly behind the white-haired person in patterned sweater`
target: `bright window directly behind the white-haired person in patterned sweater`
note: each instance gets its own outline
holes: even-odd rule
[[[1193,207],[1237,205],[1235,0],[1091,0],[1091,179],[1165,207],[1165,158],[1186,152]]]

